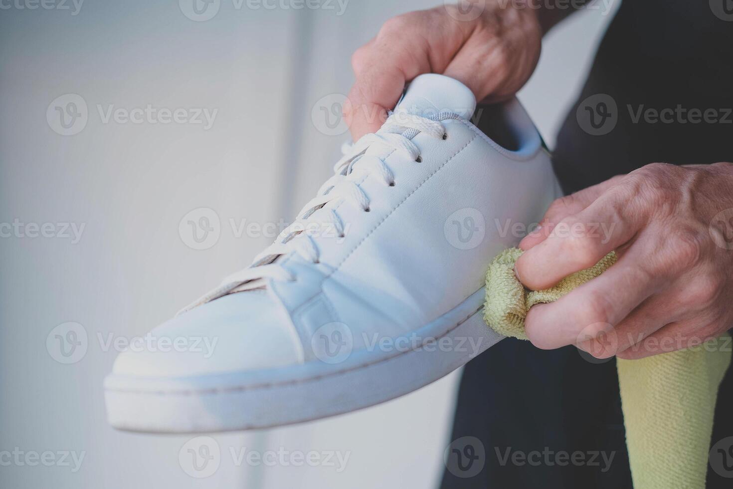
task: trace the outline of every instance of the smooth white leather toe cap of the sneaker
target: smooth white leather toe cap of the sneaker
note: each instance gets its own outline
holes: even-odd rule
[[[226,295],[154,328],[113,373],[186,377],[285,367],[302,359],[290,320],[264,290]]]

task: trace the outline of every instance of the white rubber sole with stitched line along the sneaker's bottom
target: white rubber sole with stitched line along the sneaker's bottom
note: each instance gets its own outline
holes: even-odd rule
[[[104,383],[108,422],[150,433],[252,430],[385,402],[438,380],[504,339],[485,325],[483,297],[482,289],[405,342],[394,342],[413,349],[359,350],[339,364],[315,360],[187,378],[111,374]]]

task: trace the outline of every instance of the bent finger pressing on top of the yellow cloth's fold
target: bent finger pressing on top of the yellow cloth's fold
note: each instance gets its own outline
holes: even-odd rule
[[[519,257],[517,278],[531,290],[546,289],[571,273],[592,267],[631,240],[644,216],[630,209],[627,192],[616,188],[580,213],[562,219],[547,239]]]

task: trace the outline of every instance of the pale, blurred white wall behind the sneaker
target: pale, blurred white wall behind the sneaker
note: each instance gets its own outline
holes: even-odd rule
[[[189,436],[119,433],[106,425],[101,384],[116,352],[98,335],[130,338],[247,265],[271,238],[229,225],[287,221],[328,177],[342,136],[312,121],[325,95],[346,93],[350,54],[391,15],[436,0],[350,0],[336,10],[237,10],[194,22],[176,1],[86,0],[72,15],[4,2],[0,10],[0,223],[84,225],[81,240],[0,238],[0,452],[84,452],[66,466],[3,463],[7,488],[426,488],[448,444],[457,373],[358,413],[276,430],[216,435],[221,465],[194,479],[178,453]],[[60,7],[57,4],[56,7]],[[323,4],[323,3],[322,3]],[[23,7],[23,8],[21,8]],[[576,15],[546,40],[520,93],[550,146],[610,20]],[[81,132],[60,136],[45,114],[77,94]],[[114,108],[218,109],[213,127],[103,122]],[[210,207],[221,238],[183,242],[188,211]],[[54,229],[60,230],[55,227]],[[86,355],[61,364],[46,339],[84,326]],[[490,354],[490,353],[489,353]],[[229,449],[348,453],[331,466],[237,466]]]

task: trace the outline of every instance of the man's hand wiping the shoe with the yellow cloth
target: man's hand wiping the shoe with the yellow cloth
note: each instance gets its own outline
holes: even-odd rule
[[[700,345],[733,326],[733,164],[653,163],[553,202],[520,243],[517,278],[552,287],[612,250],[619,260],[528,312],[539,348],[578,345],[638,359]]]

